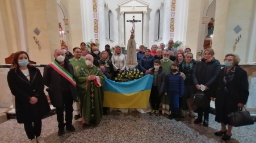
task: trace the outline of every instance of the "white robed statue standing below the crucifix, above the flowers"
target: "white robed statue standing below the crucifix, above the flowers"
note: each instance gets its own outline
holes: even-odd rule
[[[127,61],[126,64],[130,69],[135,68],[138,65],[137,56],[136,56],[136,41],[134,39],[134,30],[131,30],[131,37],[128,40],[127,44]]]

